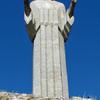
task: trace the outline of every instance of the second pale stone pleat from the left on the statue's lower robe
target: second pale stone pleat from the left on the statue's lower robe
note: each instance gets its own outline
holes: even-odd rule
[[[44,25],[41,25],[41,95],[46,96],[47,82],[46,82],[46,29]]]

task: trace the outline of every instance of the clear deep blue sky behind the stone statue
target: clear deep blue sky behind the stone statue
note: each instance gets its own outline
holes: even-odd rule
[[[68,7],[70,0],[60,0]],[[78,0],[66,46],[70,96],[100,100],[100,1]],[[32,44],[23,0],[0,0],[0,90],[32,91]]]

